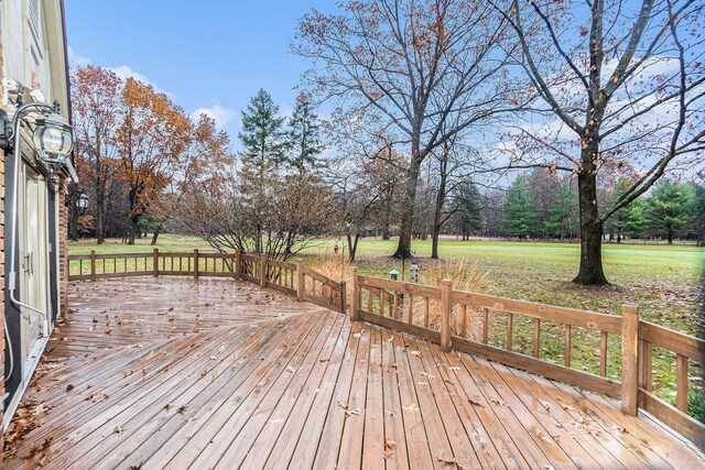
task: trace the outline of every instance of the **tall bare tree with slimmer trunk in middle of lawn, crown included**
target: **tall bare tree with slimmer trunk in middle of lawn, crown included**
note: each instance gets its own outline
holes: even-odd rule
[[[410,256],[424,160],[456,133],[519,107],[502,73],[507,21],[481,1],[348,0],[341,9],[303,17],[294,51],[321,64],[305,78],[323,99],[337,100],[349,119],[375,114],[393,145],[408,149],[394,255]]]

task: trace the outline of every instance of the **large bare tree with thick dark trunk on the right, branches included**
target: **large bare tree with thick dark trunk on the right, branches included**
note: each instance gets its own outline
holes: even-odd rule
[[[606,220],[666,170],[702,159],[705,6],[694,0],[513,0],[507,12],[494,4],[511,24],[520,45],[518,65],[545,105],[541,110],[536,103],[532,125],[518,125],[519,155],[577,174],[575,282],[606,284]],[[630,163],[639,176],[600,210],[599,179],[610,162]]]

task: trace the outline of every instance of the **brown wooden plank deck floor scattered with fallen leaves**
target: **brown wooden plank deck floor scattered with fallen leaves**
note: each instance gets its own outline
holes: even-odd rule
[[[612,401],[251,284],[78,283],[70,304],[6,469],[705,466]]]

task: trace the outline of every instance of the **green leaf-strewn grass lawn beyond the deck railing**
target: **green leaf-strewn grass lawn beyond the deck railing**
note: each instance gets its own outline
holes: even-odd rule
[[[69,244],[69,252],[97,253],[149,252],[150,238],[139,239],[135,245],[127,245],[120,240],[108,240],[98,247],[95,241],[79,241]],[[341,243],[341,242],[340,242]],[[307,264],[325,264],[330,276],[339,276],[339,264],[333,259],[334,240],[308,247],[302,252]],[[389,277],[389,271],[402,271],[401,260],[390,256],[397,245],[395,240],[365,239],[359,242],[356,264],[361,274]],[[160,251],[192,251],[194,248],[212,251],[210,247],[197,238],[160,236]],[[705,249],[688,245],[617,245],[606,244],[603,250],[604,267],[610,285],[584,287],[571,280],[577,273],[579,245],[567,243],[534,242],[490,242],[442,240],[442,260],[431,260],[431,241],[414,241],[412,250],[420,264],[421,282],[433,283],[444,270],[447,260],[475,271],[481,277],[481,289],[486,294],[532,300],[550,305],[579,308],[619,315],[622,304],[636,303],[640,317],[659,325],[704,337],[703,309],[699,297],[705,281]],[[405,264],[409,278],[409,260]],[[333,274],[335,273],[335,274]],[[401,276],[400,276],[401,278]],[[699,308],[699,311],[698,311]],[[516,323],[514,345],[518,350],[530,347],[531,328],[522,328]],[[593,331],[574,329],[573,367],[597,373],[595,345],[599,337]],[[608,342],[608,376],[619,376],[619,338],[610,336]],[[561,361],[563,354],[562,326],[555,331],[542,332],[542,353],[547,359]],[[654,348],[654,391],[674,402],[675,358],[668,351]],[[699,368],[693,368],[692,376],[702,376]],[[699,382],[694,383],[695,393],[702,391]],[[696,397],[695,397],[696,398]],[[695,407],[702,407],[694,400]],[[703,416],[698,416],[704,419]]]

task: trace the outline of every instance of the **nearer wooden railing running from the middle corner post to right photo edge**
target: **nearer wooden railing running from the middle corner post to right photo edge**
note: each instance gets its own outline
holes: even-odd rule
[[[362,276],[354,267],[350,316],[437,342],[446,351],[469,352],[621,398],[626,414],[637,415],[641,407],[705,447],[705,426],[687,415],[687,365],[705,364],[705,341],[639,320],[633,305],[625,305],[621,316],[606,315],[456,291],[451,280],[436,287]],[[599,351],[596,373],[578,370],[572,361],[578,334],[583,349]],[[556,335],[562,336],[563,363],[542,351],[542,339]],[[608,342],[621,353],[610,354]],[[651,391],[652,345],[676,354],[676,407]]]

